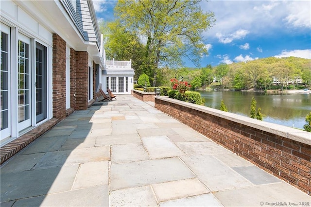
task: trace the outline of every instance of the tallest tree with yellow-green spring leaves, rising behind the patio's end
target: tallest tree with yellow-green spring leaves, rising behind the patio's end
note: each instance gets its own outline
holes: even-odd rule
[[[145,41],[141,69],[154,73],[159,66],[180,66],[187,57],[198,63],[207,53],[201,34],[214,23],[214,13],[204,13],[200,0],[119,0],[115,15],[127,31]]]

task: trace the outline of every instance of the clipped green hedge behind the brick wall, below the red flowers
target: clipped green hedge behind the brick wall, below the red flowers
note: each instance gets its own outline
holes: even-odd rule
[[[201,94],[197,91],[186,91],[185,93],[179,93],[177,90],[168,91],[169,98],[177,99],[180,101],[203,105]]]

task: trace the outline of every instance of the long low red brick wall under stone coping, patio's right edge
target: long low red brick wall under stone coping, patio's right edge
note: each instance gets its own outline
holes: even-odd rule
[[[155,107],[311,195],[310,145],[157,98]]]

